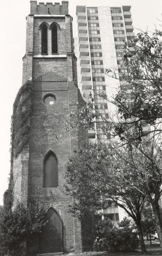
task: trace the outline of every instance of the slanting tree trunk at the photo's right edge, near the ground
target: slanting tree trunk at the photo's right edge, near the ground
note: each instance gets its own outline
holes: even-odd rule
[[[158,202],[157,203],[152,202],[152,207],[153,207],[153,212],[154,212],[154,216],[155,216],[155,222],[156,222],[160,247],[162,249],[162,216],[160,213],[160,208],[159,208]]]

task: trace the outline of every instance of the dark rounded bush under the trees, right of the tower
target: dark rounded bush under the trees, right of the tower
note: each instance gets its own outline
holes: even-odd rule
[[[137,234],[133,232],[133,228],[130,226],[130,220],[124,218],[118,226],[112,227],[110,223],[99,223],[101,231],[98,233],[98,237],[95,240],[95,251],[107,251],[108,253],[117,252],[133,252],[139,246],[139,240]],[[105,226],[104,229],[102,226]],[[104,231],[104,232],[103,232]]]

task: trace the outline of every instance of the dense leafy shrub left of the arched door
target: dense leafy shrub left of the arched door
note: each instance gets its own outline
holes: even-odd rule
[[[44,225],[45,210],[38,204],[24,207],[18,203],[15,209],[0,209],[0,255],[21,256],[23,242],[32,234],[38,234]]]

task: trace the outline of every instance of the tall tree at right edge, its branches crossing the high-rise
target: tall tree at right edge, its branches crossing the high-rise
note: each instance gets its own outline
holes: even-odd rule
[[[136,50],[134,55],[129,51],[130,44]],[[137,164],[134,168],[140,179],[129,182],[129,187],[140,183],[138,190],[152,205],[162,247],[162,214],[158,204],[162,196],[162,32],[156,29],[151,36],[148,32],[140,32],[126,45],[128,47],[121,52],[126,72],[117,74],[114,69],[105,70],[108,76],[122,80],[124,85],[111,100],[104,93],[98,94],[108,101],[110,109],[111,106],[116,109],[107,114],[99,110],[90,97],[89,103],[79,112],[80,122],[77,125],[102,133],[112,148],[122,148],[119,150],[121,155],[125,152],[123,146],[129,145],[132,153],[144,158],[140,162],[141,169]]]

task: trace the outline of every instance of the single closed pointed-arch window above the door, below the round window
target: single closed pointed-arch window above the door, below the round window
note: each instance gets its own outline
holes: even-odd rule
[[[58,163],[52,151],[46,155],[44,161],[44,187],[58,187]]]

